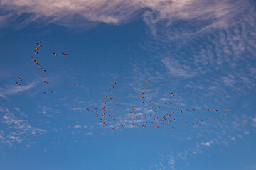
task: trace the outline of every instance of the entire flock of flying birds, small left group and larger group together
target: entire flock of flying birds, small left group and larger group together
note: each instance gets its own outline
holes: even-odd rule
[[[43,47],[43,45],[41,45],[41,41],[37,40],[36,42],[36,45],[38,45],[37,47],[35,47],[35,54],[38,55],[38,50],[39,50],[39,47]],[[64,52],[62,52],[63,55],[68,55]],[[53,52],[53,55],[58,55],[57,53]],[[31,57],[31,59],[33,60],[33,62],[35,62],[35,64],[37,64],[37,66],[43,71],[43,72],[46,72],[46,69],[43,69],[43,67],[41,66],[41,64],[39,64],[36,59],[34,57]],[[46,78],[45,75],[42,76],[43,78]],[[21,85],[21,81],[22,79],[19,77],[18,78],[18,81],[16,81],[16,84],[18,86]],[[150,84],[150,80],[149,79],[146,79],[146,81]],[[44,84],[49,84],[48,81],[45,81],[43,80],[43,83]],[[114,90],[114,85],[117,84],[116,81],[113,82],[113,85],[110,87],[110,92],[113,92]],[[72,83],[73,86],[75,86],[75,83]],[[155,106],[154,102],[153,101],[146,101],[146,86],[143,85],[142,86],[143,90],[140,91],[140,96],[139,98],[140,99],[140,103],[149,103],[149,105],[153,106],[154,109],[151,109],[152,111],[152,114],[143,114],[143,113],[134,113],[137,109],[136,108],[132,108],[132,111],[130,111],[128,113],[128,116],[125,118],[126,121],[122,120],[122,122],[128,123],[128,125],[131,127],[146,127],[146,125],[149,125],[149,124],[153,124],[156,126],[156,128],[159,128],[159,125],[167,125],[168,127],[172,128],[172,129],[175,129],[175,122],[176,122],[176,118],[172,118],[171,119],[171,114],[173,113],[174,115],[176,115],[177,113],[183,113],[182,110],[178,110],[178,111],[173,111],[172,113],[167,113],[167,114],[162,114],[162,115],[159,115],[157,114],[157,112],[159,112],[159,109],[164,106],[164,107],[168,107],[171,105],[171,101],[166,101],[164,103],[162,103],[162,106]],[[44,91],[43,92],[44,94],[46,95],[49,95],[50,93],[53,93],[53,91]],[[175,94],[174,93],[171,93],[170,96],[174,96]],[[97,108],[92,108],[92,111],[95,113],[95,115],[97,116],[100,116],[100,123],[102,123],[102,125],[107,125],[107,118],[110,118],[111,120],[114,120],[114,125],[112,125],[113,122],[110,122],[110,130],[116,130],[116,129],[122,129],[124,128],[126,125],[121,125],[120,123],[116,123],[116,118],[114,118],[114,116],[110,115],[110,114],[107,114],[107,103],[109,101],[113,101],[113,98],[110,97],[110,96],[104,96],[103,100],[102,100],[102,110],[99,111],[101,113],[98,112],[98,109]],[[115,103],[115,106],[116,107],[122,107],[121,104],[119,103]],[[226,111],[230,111],[229,108],[225,108]],[[89,108],[86,108],[86,111],[90,111]],[[196,110],[193,108],[191,110],[189,109],[186,109],[185,110],[186,112],[190,112],[190,111],[193,111],[195,112]],[[211,109],[204,109],[203,110],[204,112],[211,112],[212,110]],[[218,112],[218,109],[213,109],[213,111],[215,112]],[[222,116],[225,116],[227,115],[227,113],[223,113]],[[208,118],[206,120],[196,120],[196,121],[193,121],[191,123],[188,123],[187,121],[186,122],[183,122],[181,123],[181,125],[187,125],[187,124],[192,124],[192,125],[195,125],[197,123],[203,123],[205,121],[210,121],[210,119],[212,120],[215,120],[216,118],[213,117],[213,118]],[[174,124],[174,125],[173,125]]]

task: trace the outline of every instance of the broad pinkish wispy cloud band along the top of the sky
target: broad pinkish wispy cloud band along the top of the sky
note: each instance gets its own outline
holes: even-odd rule
[[[169,26],[180,20],[187,23],[194,20],[204,21],[205,26],[201,30],[226,27],[228,19],[244,10],[245,4],[245,2],[234,3],[230,0],[3,0],[0,4],[1,8],[8,14],[2,15],[0,21],[6,23],[7,18],[14,18],[23,13],[31,14],[26,19],[26,23],[43,20],[65,26],[72,26],[74,21],[85,23],[80,22],[81,19],[89,21],[87,23],[90,24],[98,22],[119,24],[144,18],[153,35],[159,32],[157,25],[164,23],[164,28],[166,28],[164,31],[168,31],[169,36],[174,36],[178,31],[174,31]],[[174,33],[170,34],[171,32]],[[185,34],[183,30],[180,30],[180,33],[175,36],[183,37],[191,33]]]

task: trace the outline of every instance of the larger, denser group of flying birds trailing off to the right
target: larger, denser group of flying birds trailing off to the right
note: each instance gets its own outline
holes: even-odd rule
[[[148,81],[150,83],[150,80],[149,79],[146,79],[146,81]],[[117,84],[117,82],[113,82],[113,84]],[[141,99],[141,102],[140,103],[146,103],[146,86],[143,85],[143,90],[140,92],[141,95],[140,95],[140,98]],[[112,89],[114,89],[114,86],[111,86]],[[112,92],[113,90],[110,89],[110,91]],[[174,96],[175,94],[174,93],[171,93],[170,96]],[[100,122],[103,124],[103,125],[107,125],[106,123],[106,118],[111,118],[112,120],[116,120],[115,118],[113,118],[112,115],[107,115],[107,102],[108,101],[113,101],[113,98],[111,98],[110,96],[104,96],[105,98],[103,99],[102,101],[102,111],[101,111],[101,118],[100,118]],[[109,99],[107,101],[107,99]],[[152,105],[154,106],[154,102],[153,101],[147,101],[149,103],[149,105]],[[167,102],[164,102],[163,103],[163,106],[164,107],[167,107],[171,105],[171,102],[170,101],[167,101]],[[120,104],[116,103],[115,106],[117,107],[121,107]],[[156,128],[159,128],[159,125],[167,125],[168,127],[172,128],[172,129],[175,129],[175,126],[174,125],[171,125],[171,124],[174,124],[176,123],[176,118],[173,118],[173,119],[170,119],[171,118],[171,113],[167,113],[167,114],[162,114],[162,115],[157,115],[156,113],[159,111],[159,109],[162,107],[162,106],[154,106],[155,108],[152,109],[152,114],[142,114],[142,113],[134,113],[137,109],[136,108],[132,108],[132,111],[129,112],[129,115],[127,116],[127,118],[125,118],[126,120],[129,120],[129,126],[131,127],[146,127],[146,125],[149,125],[149,124],[153,124],[156,126]],[[90,111],[89,108],[86,108],[87,111]],[[95,115],[99,116],[99,113],[97,111],[97,108],[92,108],[92,110],[95,112]],[[225,108],[226,111],[230,111],[230,108]],[[190,112],[190,111],[193,111],[193,112],[196,112],[196,109],[192,108],[191,110],[190,109],[185,109],[186,112]],[[203,110],[204,112],[212,112],[211,109],[204,109]],[[213,111],[215,112],[218,112],[218,109],[213,109]],[[177,113],[183,113],[182,110],[178,110],[178,111],[173,111],[172,112],[174,115],[176,115]],[[227,115],[227,113],[223,113],[222,114],[222,117]],[[183,122],[181,123],[181,125],[188,125],[188,124],[192,124],[192,125],[195,125],[195,124],[198,124],[198,123],[204,123],[206,121],[210,121],[210,119],[212,120],[215,120],[216,118],[213,117],[213,118],[208,118],[206,120],[196,120],[196,121],[193,121],[191,123],[188,123],[187,121],[186,122]],[[132,120],[135,120],[134,122],[137,122],[136,123],[131,123]],[[122,121],[124,122],[124,121]],[[126,121],[127,122],[127,121]],[[109,128],[110,130],[117,130],[117,129],[122,129],[124,128],[126,125],[121,125],[120,123],[115,123],[117,125],[110,125]]]

